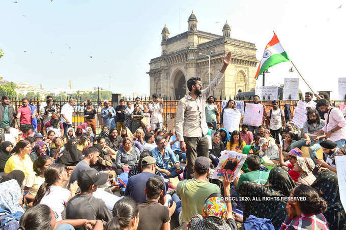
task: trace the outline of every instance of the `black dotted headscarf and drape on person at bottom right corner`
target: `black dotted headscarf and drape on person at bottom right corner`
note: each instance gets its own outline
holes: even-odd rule
[[[322,171],[311,184],[327,202],[326,217],[330,229],[346,229],[346,213],[340,200],[337,174],[332,171]],[[322,193],[322,194],[321,194]]]

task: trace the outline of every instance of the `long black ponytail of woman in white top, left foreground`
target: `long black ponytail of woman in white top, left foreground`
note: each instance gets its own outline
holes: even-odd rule
[[[66,171],[65,166],[61,165],[60,163],[54,163],[44,171],[45,182],[41,184],[39,190],[37,191],[33,206],[40,204],[43,196],[46,194],[46,191],[48,191],[49,194],[50,186],[59,179],[59,175],[64,171]]]

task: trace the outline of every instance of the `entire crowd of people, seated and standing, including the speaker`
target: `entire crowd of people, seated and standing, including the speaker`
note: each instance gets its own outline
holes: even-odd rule
[[[40,108],[23,98],[15,111],[3,96],[0,229],[345,229],[335,162],[346,154],[342,111],[307,92],[299,132],[276,101],[262,125],[229,132],[223,115],[235,102],[219,111],[210,94],[231,56],[205,89],[187,81],[169,131],[156,94],[149,104],[104,101],[99,134],[91,103],[73,127],[72,98],[61,108],[51,96]],[[241,172],[212,179],[225,150],[247,155]]]

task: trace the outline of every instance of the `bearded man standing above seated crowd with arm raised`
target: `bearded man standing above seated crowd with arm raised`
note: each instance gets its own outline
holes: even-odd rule
[[[176,133],[180,141],[180,148],[187,155],[186,179],[193,177],[193,163],[198,156],[208,157],[209,143],[206,137],[208,126],[206,122],[206,99],[221,82],[232,53],[223,57],[223,67],[210,85],[203,89],[199,77],[187,81],[189,93],[178,104]],[[202,90],[203,89],[203,90]]]

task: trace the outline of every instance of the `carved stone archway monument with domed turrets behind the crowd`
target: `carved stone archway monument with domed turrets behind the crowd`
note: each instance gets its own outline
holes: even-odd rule
[[[239,90],[254,89],[256,81],[255,44],[230,38],[230,26],[225,23],[222,34],[214,35],[197,30],[197,18],[191,13],[188,20],[188,31],[169,38],[166,25],[162,29],[161,56],[150,60],[150,93],[175,99],[187,92],[186,81],[191,77],[200,77],[203,87],[221,70],[222,56],[232,52],[232,60],[225,77],[214,91],[214,96],[234,97]],[[203,54],[201,54],[203,53]]]

